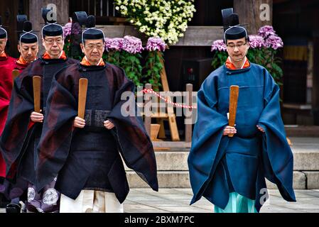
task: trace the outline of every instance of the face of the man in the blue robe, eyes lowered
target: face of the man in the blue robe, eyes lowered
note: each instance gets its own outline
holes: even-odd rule
[[[242,60],[247,55],[248,48],[246,38],[227,40],[227,52],[233,60]]]

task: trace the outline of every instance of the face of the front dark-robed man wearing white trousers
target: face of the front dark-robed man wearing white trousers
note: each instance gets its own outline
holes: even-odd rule
[[[81,43],[82,52],[85,53],[89,62],[99,62],[104,52],[103,39],[85,40],[85,45]]]

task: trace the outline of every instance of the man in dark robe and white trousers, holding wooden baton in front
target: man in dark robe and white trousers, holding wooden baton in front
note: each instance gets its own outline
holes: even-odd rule
[[[53,78],[38,145],[36,187],[42,189],[58,175],[60,212],[123,212],[129,184],[121,157],[158,190],[153,145],[143,121],[121,113],[127,104],[121,95],[134,96],[134,84],[124,70],[102,60],[104,33],[94,24],[89,16],[82,62]],[[80,78],[88,79],[85,119],[77,116]]]

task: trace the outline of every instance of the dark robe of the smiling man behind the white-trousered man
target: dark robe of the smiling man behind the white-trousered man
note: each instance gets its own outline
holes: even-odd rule
[[[28,187],[28,182],[35,183],[34,157],[36,157],[36,147],[43,124],[33,123],[30,119],[34,109],[33,76],[38,75],[42,78],[40,104],[45,112],[46,98],[53,75],[61,68],[75,62],[77,61],[70,58],[48,60],[41,57],[28,65],[14,82],[9,114],[0,139],[1,154],[6,162],[6,179],[13,182],[11,187],[17,189],[8,190],[11,199],[21,196]],[[15,183],[18,184],[15,185]],[[32,190],[31,187],[30,190]],[[30,198],[36,198],[36,194],[30,195]],[[40,208],[39,211],[45,211],[45,209]]]

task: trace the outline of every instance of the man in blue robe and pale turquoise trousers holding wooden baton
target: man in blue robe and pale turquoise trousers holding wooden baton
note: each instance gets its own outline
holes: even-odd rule
[[[229,57],[198,92],[188,157],[191,204],[204,196],[215,212],[259,212],[268,195],[265,177],[283,199],[296,201],[293,154],[281,119],[279,86],[264,67],[247,60],[248,35],[238,15],[232,9],[222,13]],[[235,127],[227,119],[232,85],[239,86]]]

